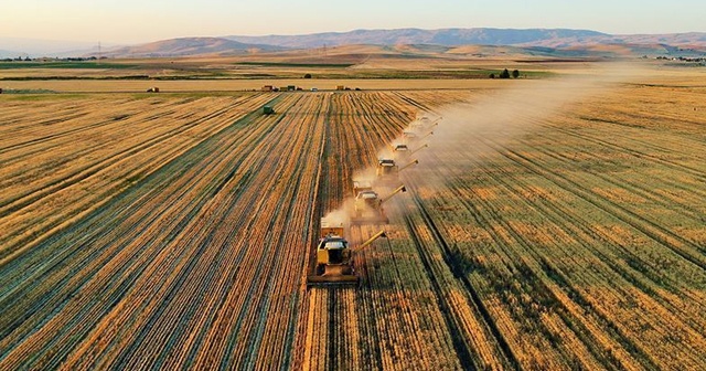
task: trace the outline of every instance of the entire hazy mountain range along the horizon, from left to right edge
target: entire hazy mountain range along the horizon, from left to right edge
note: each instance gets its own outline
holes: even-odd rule
[[[76,50],[76,43],[66,43],[61,51],[57,42],[47,43],[51,47],[42,50],[38,41],[23,44],[18,39],[0,39],[1,57],[96,55],[92,49]],[[10,47],[8,47],[8,44]],[[354,30],[350,32],[325,32],[301,35],[228,35],[221,38],[180,38],[130,46],[104,47],[103,55],[110,57],[151,57],[188,55],[243,55],[254,52],[277,52],[292,49],[324,49],[339,45],[489,45],[528,47],[534,51],[570,51],[580,54],[584,51],[619,50],[618,54],[670,55],[687,52],[691,55],[706,54],[706,32],[671,34],[622,34],[613,35],[590,30],[569,29],[395,29],[395,30]],[[607,46],[607,47],[605,47]],[[2,55],[8,54],[8,55]]]

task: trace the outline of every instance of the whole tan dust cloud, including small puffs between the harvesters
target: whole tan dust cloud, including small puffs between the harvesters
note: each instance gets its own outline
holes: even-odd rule
[[[472,171],[472,162],[478,158],[496,155],[493,147],[512,148],[513,140],[537,130],[543,121],[569,109],[569,105],[580,104],[582,99],[600,95],[617,84],[628,83],[642,72],[640,66],[611,64],[556,78],[503,81],[501,83],[511,87],[492,91],[481,97],[470,95],[466,103],[418,113],[403,134],[381,148],[377,156],[378,159],[395,159],[399,168],[418,160],[418,165],[399,173],[398,183],[413,186],[413,192],[434,192],[454,174],[468,172],[469,168]],[[400,144],[407,145],[406,151],[393,150]],[[376,183],[374,168],[355,173],[353,180],[372,182],[379,197],[385,197],[398,186]],[[409,202],[408,198],[395,197],[392,201],[397,204],[394,210],[409,209],[400,208]],[[354,200],[349,198],[342,208],[324,218],[333,223],[343,223],[347,229],[353,210]]]

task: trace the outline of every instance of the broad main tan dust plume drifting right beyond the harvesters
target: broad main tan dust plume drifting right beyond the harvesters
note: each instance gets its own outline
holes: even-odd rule
[[[586,75],[526,82],[531,84],[440,107],[431,114],[442,119],[432,128],[434,135],[424,140],[428,148],[415,153],[419,165],[403,178],[434,190],[454,173],[468,171],[468,162],[496,155],[493,147],[512,148],[513,140],[537,130],[569,105],[606,93],[640,73],[639,66],[616,64]],[[461,162],[466,163],[459,166]]]

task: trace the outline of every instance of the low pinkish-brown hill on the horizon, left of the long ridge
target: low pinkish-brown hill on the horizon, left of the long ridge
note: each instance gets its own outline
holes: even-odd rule
[[[272,52],[280,46],[242,43],[223,38],[180,38],[124,46],[105,51],[105,56],[156,57],[188,55],[238,55],[253,52]]]

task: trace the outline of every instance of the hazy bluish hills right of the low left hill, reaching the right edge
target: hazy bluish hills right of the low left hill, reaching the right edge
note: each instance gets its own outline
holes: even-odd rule
[[[706,33],[611,35],[590,30],[569,29],[398,29],[355,30],[304,35],[226,36],[239,42],[295,49],[322,49],[338,45],[410,45],[416,53],[493,55],[528,54],[544,56],[634,56],[634,55],[706,55]],[[420,45],[427,45],[420,47]],[[436,45],[431,47],[430,45]],[[484,49],[477,53],[441,51],[442,47],[484,45],[514,47]],[[495,54],[498,55],[498,54]]]

